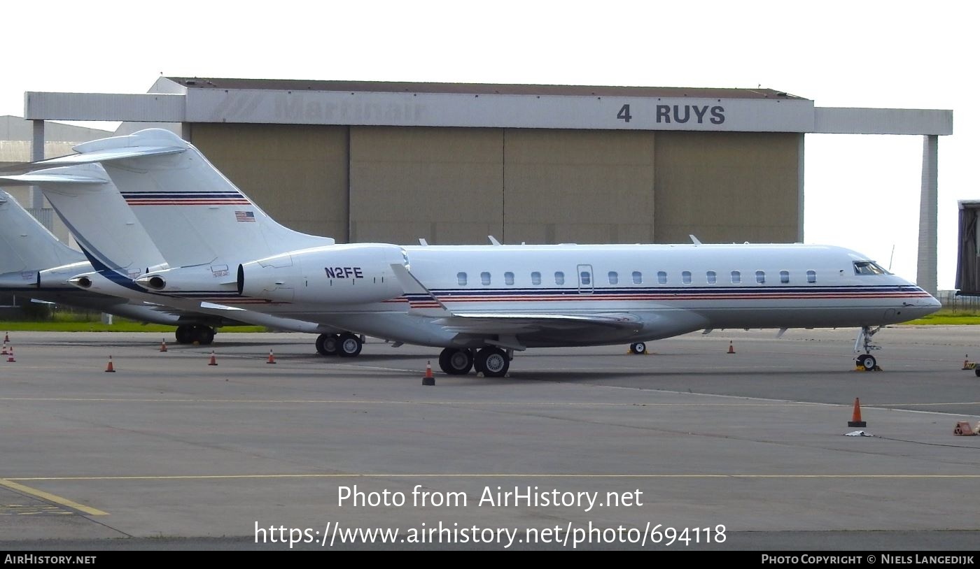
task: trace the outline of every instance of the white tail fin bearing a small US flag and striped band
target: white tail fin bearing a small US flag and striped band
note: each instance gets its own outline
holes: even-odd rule
[[[150,128],[74,149],[78,157],[68,158],[95,160],[105,167],[173,267],[251,261],[334,243],[277,223],[169,130]]]

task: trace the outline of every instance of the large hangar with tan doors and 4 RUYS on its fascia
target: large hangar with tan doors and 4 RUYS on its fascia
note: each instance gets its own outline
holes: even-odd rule
[[[282,223],[403,244],[802,241],[806,133],[923,135],[932,291],[937,140],[953,131],[951,111],[772,89],[198,77],[28,92],[25,118],[40,142],[48,119],[166,123]]]

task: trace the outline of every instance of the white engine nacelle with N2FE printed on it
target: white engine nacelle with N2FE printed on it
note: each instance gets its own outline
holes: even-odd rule
[[[397,245],[355,243],[292,251],[238,265],[242,296],[321,305],[376,303],[404,291],[391,270],[403,264]]]

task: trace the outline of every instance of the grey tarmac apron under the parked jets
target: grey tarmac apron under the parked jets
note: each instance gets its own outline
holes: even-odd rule
[[[980,437],[954,428],[980,327],[884,329],[876,372],[856,334],[530,350],[493,379],[374,339],[12,332],[0,550],[976,548]]]

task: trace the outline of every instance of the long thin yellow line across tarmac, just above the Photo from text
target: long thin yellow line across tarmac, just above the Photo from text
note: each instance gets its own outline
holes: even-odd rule
[[[270,480],[270,479],[329,479],[329,478],[768,478],[768,479],[813,479],[813,478],[872,478],[872,479],[963,479],[977,480],[980,474],[529,474],[529,473],[387,473],[387,474],[200,474],[174,476],[52,476],[36,478],[7,478],[7,481],[97,481],[97,480]],[[5,479],[0,479],[3,481]],[[74,506],[73,506],[74,507]]]

